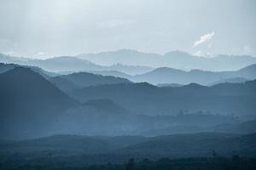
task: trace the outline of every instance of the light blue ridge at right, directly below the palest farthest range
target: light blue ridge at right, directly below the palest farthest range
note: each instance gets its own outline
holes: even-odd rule
[[[129,79],[133,82],[148,82],[152,84],[189,84],[195,82],[202,85],[212,85],[218,82],[245,82],[246,80],[253,80],[256,79],[255,71],[256,65],[249,65],[238,71],[181,71],[161,67],[145,74],[129,77]],[[237,79],[238,77],[240,80]]]

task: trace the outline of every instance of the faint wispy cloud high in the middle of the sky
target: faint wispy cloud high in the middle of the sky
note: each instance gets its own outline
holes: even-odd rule
[[[135,20],[106,20],[98,24],[98,27],[102,28],[113,28],[117,26],[128,26],[133,25]]]

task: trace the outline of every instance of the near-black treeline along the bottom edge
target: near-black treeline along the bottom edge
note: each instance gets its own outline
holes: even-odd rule
[[[79,166],[75,160],[58,161],[58,158],[52,157],[49,161],[26,161],[1,162],[0,169],[44,169],[44,170],[254,170],[256,169],[256,159],[250,157],[232,156],[227,157],[201,157],[201,158],[183,158],[169,159],[161,158],[158,161],[135,161],[131,158],[129,161],[120,164],[107,163],[104,165]],[[73,163],[70,163],[73,162]]]

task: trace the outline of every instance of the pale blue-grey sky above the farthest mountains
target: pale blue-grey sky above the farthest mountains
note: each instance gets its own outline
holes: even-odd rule
[[[44,59],[131,48],[256,57],[254,0],[0,0],[0,53]]]

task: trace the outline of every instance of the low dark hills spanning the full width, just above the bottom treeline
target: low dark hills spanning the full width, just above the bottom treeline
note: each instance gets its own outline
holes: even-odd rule
[[[120,142],[123,141],[123,142]],[[20,142],[0,144],[0,152],[30,153],[30,156],[80,156],[88,161],[125,161],[160,157],[252,156],[256,153],[256,135],[229,133],[174,134],[143,138],[139,136],[86,137],[55,135]],[[8,153],[8,152],[5,152]],[[101,154],[101,155],[100,155]],[[100,157],[99,157],[100,155]],[[26,155],[24,155],[26,156]],[[119,159],[116,159],[119,157]],[[97,159],[96,159],[97,158]],[[97,160],[97,161],[96,161]],[[93,162],[90,162],[93,163]]]

